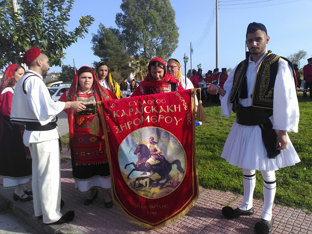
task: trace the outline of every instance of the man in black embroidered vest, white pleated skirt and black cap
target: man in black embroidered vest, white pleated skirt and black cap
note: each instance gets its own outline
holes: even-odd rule
[[[207,92],[220,94],[221,114],[236,113],[221,157],[242,168],[244,199],[241,206],[223,207],[227,218],[254,215],[255,170],[263,177],[262,219],[257,234],[273,228],[272,207],[276,191],[275,170],[300,161],[287,132],[298,132],[299,106],[292,63],[266,50],[270,37],[261,23],[250,23],[246,33],[249,58],[229,74],[224,89],[208,85]]]

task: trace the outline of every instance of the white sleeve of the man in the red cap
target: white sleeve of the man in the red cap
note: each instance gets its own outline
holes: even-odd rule
[[[25,91],[30,109],[41,125],[49,123],[65,107],[65,102],[52,100],[48,88],[39,78],[28,78],[25,81]]]

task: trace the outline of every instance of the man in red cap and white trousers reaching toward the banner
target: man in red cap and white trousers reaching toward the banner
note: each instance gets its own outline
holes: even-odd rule
[[[11,121],[25,124],[23,141],[29,147],[32,164],[32,189],[35,216],[45,224],[71,221],[75,213],[60,213],[60,154],[57,117],[64,109],[82,111],[83,102],[55,102],[42,81],[49,66],[48,57],[38,48],[26,51],[24,63],[29,70],[16,84],[12,101]]]

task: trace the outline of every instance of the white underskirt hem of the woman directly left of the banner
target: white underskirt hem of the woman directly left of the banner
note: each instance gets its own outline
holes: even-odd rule
[[[75,179],[75,188],[81,193],[87,193],[92,188],[111,189],[111,176],[92,177],[87,180]]]

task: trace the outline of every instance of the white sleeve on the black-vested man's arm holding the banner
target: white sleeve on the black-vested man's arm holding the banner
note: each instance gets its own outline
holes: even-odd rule
[[[225,95],[223,97],[220,95],[219,97],[221,102],[221,115],[227,118],[231,116],[233,108],[233,103],[230,102],[230,99],[233,89],[234,73],[237,66],[230,72],[228,79],[224,83],[223,89],[225,90]]]

